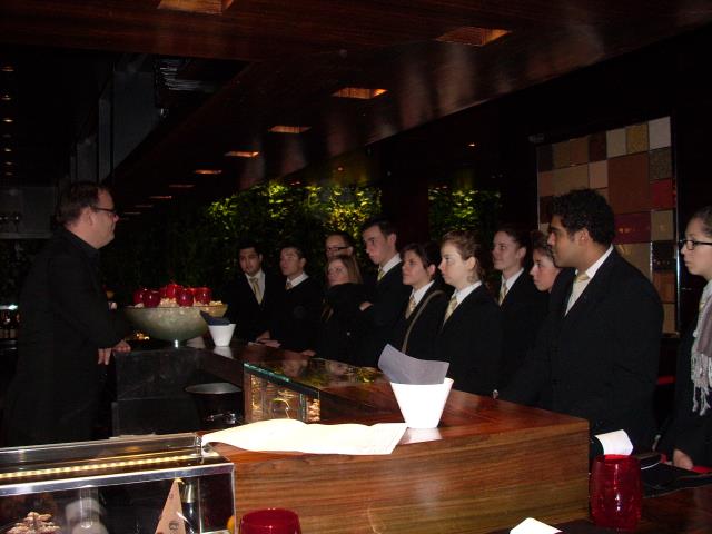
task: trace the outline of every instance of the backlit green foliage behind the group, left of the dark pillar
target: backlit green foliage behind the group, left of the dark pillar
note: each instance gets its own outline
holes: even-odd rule
[[[140,231],[119,231],[102,250],[103,273],[121,301],[128,301],[137,287],[159,287],[170,280],[208,285],[219,297],[239,274],[237,244],[249,238],[261,245],[265,266],[273,270],[278,270],[283,245],[300,245],[307,270],[318,275],[325,235],[344,229],[357,237],[359,225],[379,210],[380,190],[375,187],[274,182],[207,207],[186,199],[146,217]]]

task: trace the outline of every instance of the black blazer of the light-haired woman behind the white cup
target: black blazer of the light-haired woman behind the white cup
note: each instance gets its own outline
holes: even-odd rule
[[[457,305],[436,345],[437,359],[449,362],[455,389],[492,395],[500,378],[502,310],[484,285]]]

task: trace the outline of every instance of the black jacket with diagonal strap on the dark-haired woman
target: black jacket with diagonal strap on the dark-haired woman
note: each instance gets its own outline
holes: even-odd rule
[[[408,303],[406,301],[394,328],[390,345],[414,358],[435,359],[435,339],[443,324],[443,315],[451,293],[449,286],[433,283],[407,319],[405,312]]]

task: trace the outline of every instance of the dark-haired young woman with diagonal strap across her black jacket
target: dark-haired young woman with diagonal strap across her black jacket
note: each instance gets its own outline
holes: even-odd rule
[[[400,251],[403,284],[411,286],[411,297],[394,328],[390,344],[398,350],[421,359],[435,358],[435,336],[443,324],[449,300],[437,266],[441,250],[435,243],[412,243]]]

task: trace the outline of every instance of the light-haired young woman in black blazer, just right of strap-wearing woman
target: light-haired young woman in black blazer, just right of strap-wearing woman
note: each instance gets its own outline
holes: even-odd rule
[[[492,395],[500,378],[502,310],[485,288],[487,250],[469,231],[445,235],[441,245],[441,273],[455,291],[437,336],[438,359],[449,362],[454,387]]]

